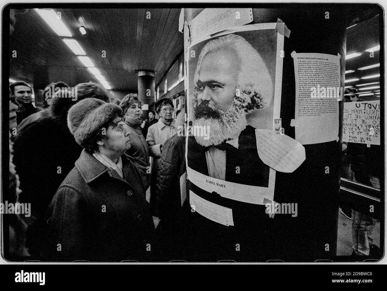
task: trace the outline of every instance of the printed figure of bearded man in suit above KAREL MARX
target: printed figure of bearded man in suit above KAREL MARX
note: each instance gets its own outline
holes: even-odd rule
[[[246,115],[267,108],[273,91],[262,56],[245,38],[209,40],[197,61],[191,118],[192,126],[209,126],[209,134],[188,137],[188,167],[219,180],[268,187],[269,166],[258,156]]]

